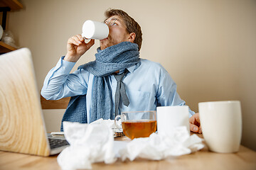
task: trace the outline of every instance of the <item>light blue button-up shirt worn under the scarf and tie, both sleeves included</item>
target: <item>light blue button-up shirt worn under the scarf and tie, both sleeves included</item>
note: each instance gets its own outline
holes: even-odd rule
[[[47,100],[58,100],[69,96],[86,95],[87,118],[92,111],[92,87],[95,76],[85,69],[78,69],[70,74],[75,62],[67,62],[60,58],[53,69],[48,72],[43,83],[41,95]],[[183,106],[183,101],[176,91],[176,83],[169,73],[156,62],[141,59],[127,68],[129,73],[122,80],[129,98],[129,106],[119,103],[119,111],[156,111],[156,106]],[[114,75],[108,76],[112,92],[114,111],[114,94],[117,81]],[[189,109],[190,117],[194,114]],[[90,120],[87,120],[90,122]]]

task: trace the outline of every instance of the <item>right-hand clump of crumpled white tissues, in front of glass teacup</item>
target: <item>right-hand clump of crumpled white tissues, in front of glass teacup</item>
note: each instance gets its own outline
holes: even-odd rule
[[[190,154],[203,147],[202,139],[197,135],[190,136],[186,127],[183,126],[173,130],[169,136],[152,133],[149,137],[135,138],[126,147],[120,149],[119,154],[122,161],[125,159],[133,161],[137,157],[161,160]]]

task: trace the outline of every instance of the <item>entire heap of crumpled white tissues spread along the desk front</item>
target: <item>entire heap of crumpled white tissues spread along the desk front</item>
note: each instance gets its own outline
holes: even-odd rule
[[[204,147],[197,135],[189,135],[186,127],[178,127],[169,135],[152,133],[132,141],[114,141],[113,120],[97,120],[90,124],[64,122],[65,138],[70,143],[58,155],[62,169],[92,169],[92,163],[112,164],[136,158],[161,160],[196,152]],[[114,126],[114,125],[113,125]]]

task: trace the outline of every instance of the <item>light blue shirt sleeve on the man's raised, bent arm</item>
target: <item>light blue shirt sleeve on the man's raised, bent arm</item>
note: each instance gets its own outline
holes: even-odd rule
[[[60,57],[56,66],[50,69],[43,82],[41,95],[47,100],[58,100],[87,93],[89,72],[78,69],[70,74],[75,62],[68,62],[63,58]]]

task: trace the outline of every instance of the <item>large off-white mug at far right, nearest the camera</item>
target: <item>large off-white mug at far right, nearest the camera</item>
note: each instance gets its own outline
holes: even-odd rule
[[[203,137],[213,152],[238,152],[242,137],[240,101],[198,103]]]

